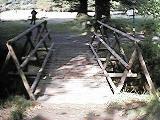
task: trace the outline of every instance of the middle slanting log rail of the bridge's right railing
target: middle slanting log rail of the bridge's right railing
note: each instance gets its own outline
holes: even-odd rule
[[[108,51],[120,62],[124,65],[125,68],[129,69],[129,64],[126,63],[111,47],[109,47],[95,32],[96,38],[108,49]]]

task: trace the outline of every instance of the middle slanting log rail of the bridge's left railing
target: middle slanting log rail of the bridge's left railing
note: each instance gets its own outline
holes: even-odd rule
[[[46,39],[46,37],[49,35],[49,32],[46,33],[46,35],[38,42],[36,47],[33,49],[33,51],[26,57],[26,59],[23,61],[23,63],[20,65],[21,68],[23,68],[27,63],[29,62],[30,58],[35,54],[35,52],[38,50],[42,42]]]

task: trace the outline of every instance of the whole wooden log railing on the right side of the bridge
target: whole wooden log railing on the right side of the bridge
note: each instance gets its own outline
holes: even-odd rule
[[[155,87],[154,84],[151,80],[151,77],[149,75],[149,72],[147,70],[145,61],[143,59],[141,49],[139,47],[139,42],[140,40],[128,35],[114,27],[109,26],[108,24],[105,24],[101,21],[97,21],[99,24],[99,28],[97,32],[94,32],[93,38],[90,42],[90,48],[92,52],[94,53],[104,75],[106,76],[107,82],[110,85],[110,88],[113,93],[119,93],[122,88],[124,87],[124,82],[127,77],[137,77],[136,73],[132,73],[131,69],[134,66],[134,61],[136,58],[138,58],[141,68],[143,70],[143,73],[146,77],[146,80],[149,84],[150,87],[150,93],[155,94]],[[109,35],[106,34],[106,31],[112,32],[113,33],[113,38],[114,40],[109,40]],[[121,43],[123,40],[120,41],[120,37],[122,38],[127,38],[128,42],[132,43],[133,45],[133,51],[130,57],[128,58],[127,55],[125,54],[125,51],[123,49],[123,46]],[[125,42],[124,44],[127,44]],[[118,50],[115,49],[115,47],[118,46]],[[103,47],[103,49],[102,49]],[[104,49],[105,48],[105,49]],[[131,49],[131,48],[129,48]],[[99,51],[103,51],[106,53],[106,58],[101,58],[99,56]],[[113,59],[114,58],[114,59]],[[102,61],[103,59],[103,61]],[[123,68],[123,73],[116,73],[113,71],[112,73],[109,73],[107,71],[107,62],[111,63],[121,63]],[[114,67],[114,66],[113,66]],[[116,86],[115,83],[113,82],[113,78],[115,77],[120,77],[120,82]]]

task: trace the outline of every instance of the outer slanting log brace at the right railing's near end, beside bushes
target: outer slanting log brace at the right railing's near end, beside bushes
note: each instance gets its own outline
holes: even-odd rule
[[[144,61],[144,59],[143,59],[142,53],[141,53],[141,51],[140,51],[140,48],[138,47],[138,45],[137,45],[136,47],[137,47],[138,58],[139,58],[139,61],[140,61],[140,64],[141,64],[143,73],[144,73],[144,75],[145,75],[145,77],[146,77],[146,80],[147,80],[147,82],[148,82],[148,84],[149,84],[149,87],[150,87],[150,93],[153,94],[153,95],[156,95],[156,89],[155,89],[155,87],[154,87],[154,84],[153,84],[153,82],[152,82],[152,79],[151,79],[151,77],[150,77],[150,75],[149,75],[149,72],[148,72],[148,70],[147,70],[146,63],[145,63],[145,61]]]

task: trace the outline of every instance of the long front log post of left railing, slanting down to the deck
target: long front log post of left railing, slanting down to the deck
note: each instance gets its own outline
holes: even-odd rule
[[[16,57],[16,55],[15,55],[15,53],[14,53],[13,48],[12,48],[8,43],[7,43],[7,48],[8,48],[8,50],[9,50],[9,53],[10,53],[11,57],[13,58],[13,61],[14,61],[15,65],[16,65],[16,67],[17,67],[17,70],[18,70],[19,74],[20,74],[20,76],[21,76],[21,78],[22,78],[23,85],[24,85],[24,87],[26,88],[26,91],[27,91],[29,97],[30,97],[32,100],[35,100],[35,96],[34,96],[34,94],[32,93],[31,88],[30,88],[30,86],[29,86],[29,84],[28,84],[28,81],[27,81],[27,79],[26,79],[26,76],[25,76],[23,70],[22,70],[21,67],[20,67],[20,64],[19,64],[18,59],[17,59],[17,57]]]

